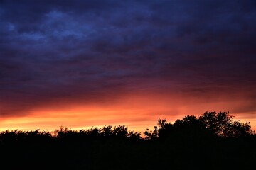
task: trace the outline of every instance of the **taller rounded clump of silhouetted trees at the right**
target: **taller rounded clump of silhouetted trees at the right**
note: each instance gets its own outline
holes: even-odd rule
[[[250,123],[240,123],[233,120],[229,112],[205,112],[203,115],[186,115],[173,124],[166,119],[158,120],[158,128],[144,132],[146,139],[163,138],[209,138],[209,137],[251,137],[255,132]]]

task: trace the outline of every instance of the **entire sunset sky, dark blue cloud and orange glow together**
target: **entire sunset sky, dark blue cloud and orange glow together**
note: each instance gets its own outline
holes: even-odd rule
[[[0,130],[228,111],[256,130],[256,1],[0,0]]]

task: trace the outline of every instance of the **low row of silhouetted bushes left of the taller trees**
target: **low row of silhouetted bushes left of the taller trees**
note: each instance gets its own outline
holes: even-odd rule
[[[139,132],[127,130],[124,125],[105,125],[102,128],[91,128],[89,130],[71,130],[63,125],[54,132],[45,130],[6,130],[0,133],[0,143],[10,142],[49,142],[50,140],[139,140]]]

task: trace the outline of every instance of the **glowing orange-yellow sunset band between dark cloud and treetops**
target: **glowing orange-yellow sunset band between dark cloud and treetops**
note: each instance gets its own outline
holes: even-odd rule
[[[144,132],[153,129],[158,118],[166,118],[174,123],[185,115],[201,115],[205,111],[230,111],[235,120],[250,122],[256,128],[255,112],[236,113],[234,101],[207,101],[199,99],[181,99],[166,94],[137,94],[120,98],[114,103],[82,105],[73,104],[63,108],[34,108],[27,115],[19,117],[1,117],[0,130],[48,130],[53,131],[63,125],[71,130],[101,128],[104,125],[127,125],[128,130]],[[236,106],[242,104],[237,101]]]

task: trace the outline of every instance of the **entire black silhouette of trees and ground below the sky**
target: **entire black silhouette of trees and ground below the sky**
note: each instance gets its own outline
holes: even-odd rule
[[[256,135],[228,112],[158,120],[144,136],[124,125],[0,133],[7,169],[223,169],[254,166]]]

